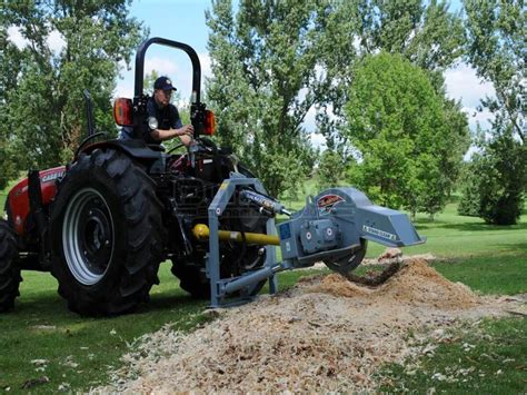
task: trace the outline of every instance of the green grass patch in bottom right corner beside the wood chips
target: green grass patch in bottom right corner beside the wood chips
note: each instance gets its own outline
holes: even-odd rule
[[[382,392],[418,394],[525,394],[527,388],[527,318],[486,319],[476,327],[451,332],[420,358],[417,369],[387,366]],[[387,378],[386,378],[387,376]]]

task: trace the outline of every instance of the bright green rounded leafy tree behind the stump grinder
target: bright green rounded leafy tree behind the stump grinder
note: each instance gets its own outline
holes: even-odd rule
[[[468,148],[466,119],[427,73],[401,56],[366,57],[355,70],[346,136],[359,151],[354,184],[379,204],[443,209]]]

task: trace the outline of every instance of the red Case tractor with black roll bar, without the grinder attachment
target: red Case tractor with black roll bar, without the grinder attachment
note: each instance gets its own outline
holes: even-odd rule
[[[145,53],[152,43],[181,49],[192,63],[195,144],[183,155],[166,154],[141,138],[148,125]],[[181,288],[197,297],[210,295],[207,245],[197,243],[191,229],[207,223],[207,208],[223,179],[250,172],[206,137],[213,115],[200,101],[200,76],[191,47],[161,38],[145,41],[136,56],[135,98],[115,106],[117,124],[131,127],[136,138],[95,142],[101,134],[93,132],[89,109],[89,136],[71,162],[30,171],[11,189],[7,220],[0,219],[0,312],[13,307],[22,269],[50,271],[68,307],[81,315],[133,310],[159,283],[159,264],[166,259]],[[243,215],[222,216],[220,228],[266,231],[268,216],[257,205],[233,201],[229,209]],[[221,243],[223,277],[258,269],[265,260],[261,246]],[[262,283],[249,292],[257,293]]]

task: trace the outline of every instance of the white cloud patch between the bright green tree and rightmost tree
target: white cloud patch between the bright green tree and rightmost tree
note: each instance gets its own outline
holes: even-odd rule
[[[467,63],[460,63],[445,72],[445,83],[450,98],[461,100],[466,108],[476,108],[485,96],[495,96],[490,82],[483,81]]]

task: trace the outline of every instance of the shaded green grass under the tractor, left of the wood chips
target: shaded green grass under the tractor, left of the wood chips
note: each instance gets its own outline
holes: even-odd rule
[[[207,320],[199,314],[207,303],[191,300],[180,290],[169,267],[161,267],[162,283],[152,288],[147,306],[133,315],[102,319],[68,312],[53,277],[24,271],[14,312],[0,318],[0,391],[20,389],[42,376],[50,382],[36,385],[32,392],[54,392],[61,383],[87,389],[107,379],[109,367],[117,366],[127,343],[166,323],[190,330]],[[43,372],[36,371],[34,359],[47,361]]]

